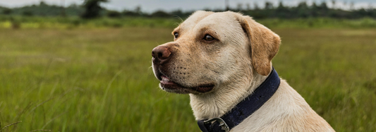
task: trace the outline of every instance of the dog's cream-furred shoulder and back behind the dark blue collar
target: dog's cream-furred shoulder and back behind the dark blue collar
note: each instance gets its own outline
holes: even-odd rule
[[[249,127],[252,124],[253,127]],[[232,131],[334,131],[281,79],[277,92]]]

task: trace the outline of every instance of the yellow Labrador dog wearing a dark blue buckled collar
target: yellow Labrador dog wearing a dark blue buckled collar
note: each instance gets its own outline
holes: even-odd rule
[[[190,95],[202,131],[334,131],[274,73],[280,37],[250,16],[196,11],[172,35],[152,49],[152,69],[162,90]],[[272,92],[257,92],[261,86]]]

